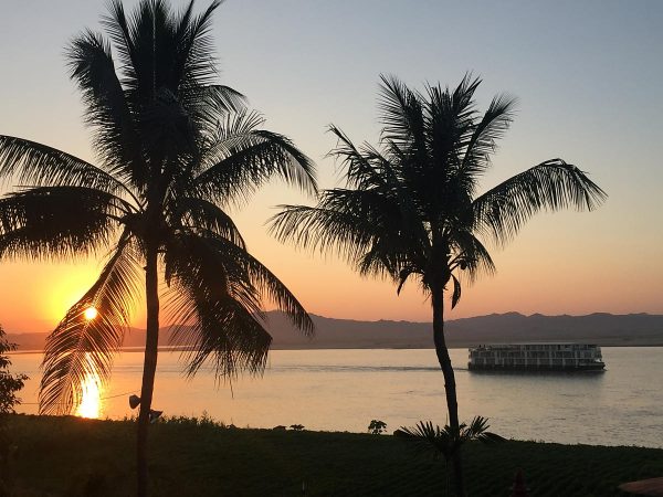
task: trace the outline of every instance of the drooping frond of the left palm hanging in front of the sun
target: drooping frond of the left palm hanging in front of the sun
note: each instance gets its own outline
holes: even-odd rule
[[[96,283],[74,304],[46,339],[39,402],[42,414],[69,414],[86,381],[106,384],[122,347],[143,277],[139,254],[125,234]],[[97,317],[85,318],[94,307]]]

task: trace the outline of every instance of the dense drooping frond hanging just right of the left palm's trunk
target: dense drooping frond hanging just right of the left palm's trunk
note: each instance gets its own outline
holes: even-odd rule
[[[188,373],[209,358],[218,377],[261,372],[272,338],[259,321],[263,311],[246,268],[194,235],[173,235],[164,257],[166,310],[175,342],[189,346]]]

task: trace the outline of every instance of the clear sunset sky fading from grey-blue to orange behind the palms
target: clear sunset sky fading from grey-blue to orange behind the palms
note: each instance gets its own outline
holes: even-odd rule
[[[1,0],[0,134],[94,161],[83,107],[65,66],[67,42],[99,31],[97,0]],[[130,7],[135,1],[127,1]],[[181,6],[183,2],[172,2]],[[198,1],[198,8],[208,2]],[[228,0],[213,36],[221,82],[249,97],[265,128],[291,137],[318,167],[322,188],[341,184],[326,133],[377,144],[380,74],[414,88],[483,78],[480,108],[519,99],[483,188],[550,158],[580,167],[603,188],[597,211],[539,214],[504,248],[497,274],[465,286],[448,318],[519,311],[663,314],[663,2]],[[7,192],[11,184],[3,186]],[[266,220],[282,203],[313,203],[274,181],[232,211],[249,248],[309,313],[349,319],[431,319],[418,286],[400,296],[343,261],[276,242]],[[101,268],[0,261],[0,324],[48,331]],[[267,308],[270,304],[267,304]],[[135,325],[145,314],[136,309]]]

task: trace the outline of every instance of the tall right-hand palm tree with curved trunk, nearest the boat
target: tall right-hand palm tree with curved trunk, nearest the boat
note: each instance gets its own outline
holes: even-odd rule
[[[320,192],[315,207],[283,205],[271,230],[281,241],[336,251],[362,275],[390,277],[400,293],[418,279],[433,310],[433,341],[444,374],[449,423],[459,430],[456,387],[444,340],[444,296],[461,298],[461,273],[472,282],[495,269],[484,245],[508,242],[533,214],[567,207],[592,210],[606,194],[561,159],[541,162],[478,193],[495,141],[508,128],[515,99],[493,98],[481,115],[478,78],[465,75],[455,89],[408,88],[381,77],[381,150],[356,147],[338,128],[330,156],[346,168],[346,188]],[[464,494],[460,452],[456,493]]]

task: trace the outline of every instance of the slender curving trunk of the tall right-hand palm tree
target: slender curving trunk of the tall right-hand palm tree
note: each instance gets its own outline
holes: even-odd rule
[[[459,403],[456,400],[455,376],[449,357],[449,349],[444,340],[444,290],[440,288],[431,289],[431,300],[433,305],[433,340],[435,342],[435,353],[442,374],[444,374],[444,392],[446,394],[446,409],[449,411],[449,425],[453,433],[459,433]],[[463,482],[463,464],[461,459],[461,448],[452,455],[455,494],[457,497],[465,496],[465,484]]]

